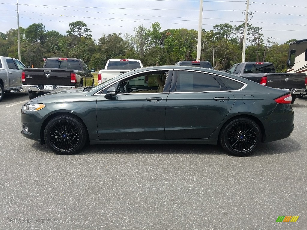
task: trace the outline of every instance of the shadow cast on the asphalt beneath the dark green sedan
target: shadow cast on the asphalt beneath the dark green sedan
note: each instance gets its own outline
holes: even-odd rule
[[[285,141],[286,140],[286,141]],[[46,144],[34,142],[32,147],[37,151],[53,153]],[[301,150],[301,145],[286,138],[269,143],[260,143],[258,149],[247,157],[284,154]],[[53,153],[56,154],[56,153]],[[227,155],[220,145],[205,144],[95,144],[86,145],[77,155],[88,154],[199,154]]]

